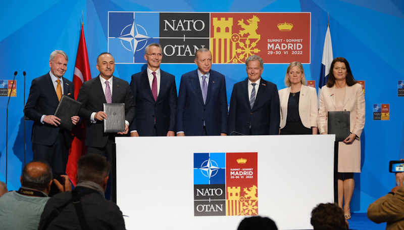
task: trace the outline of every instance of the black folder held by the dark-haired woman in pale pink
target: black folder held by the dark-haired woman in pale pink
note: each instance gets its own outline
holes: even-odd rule
[[[328,134],[335,134],[335,141],[342,142],[350,134],[349,111],[328,112]]]

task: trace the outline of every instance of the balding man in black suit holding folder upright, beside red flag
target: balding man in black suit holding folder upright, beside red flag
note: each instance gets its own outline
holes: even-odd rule
[[[125,103],[125,131],[134,115],[133,95],[127,81],[113,76],[115,61],[111,54],[102,53],[97,57],[99,75],[83,83],[77,101],[81,102],[80,116],[86,125],[85,145],[88,153],[102,154],[111,159],[112,144],[116,133],[104,132],[104,119],[108,119],[104,103]]]

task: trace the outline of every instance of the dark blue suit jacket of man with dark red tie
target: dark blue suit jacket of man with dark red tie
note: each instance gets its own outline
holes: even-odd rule
[[[135,102],[135,116],[129,131],[140,136],[165,136],[175,132],[177,114],[177,87],[172,74],[160,70],[160,90],[155,101],[147,77],[147,69],[132,75],[130,88]]]

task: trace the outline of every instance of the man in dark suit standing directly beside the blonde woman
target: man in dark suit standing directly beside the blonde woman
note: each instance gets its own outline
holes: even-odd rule
[[[245,61],[248,78],[233,86],[229,134],[279,134],[280,110],[276,85],[261,78],[264,61],[257,55]]]

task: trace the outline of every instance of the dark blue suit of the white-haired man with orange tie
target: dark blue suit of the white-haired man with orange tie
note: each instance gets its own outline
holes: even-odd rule
[[[63,94],[74,98],[73,82],[63,77]],[[54,173],[65,173],[72,136],[68,130],[41,123],[42,115],[55,114],[59,105],[58,96],[49,73],[32,80],[25,104],[25,116],[34,121],[32,125],[32,151],[34,160],[44,160]],[[57,146],[55,149],[55,145]]]

